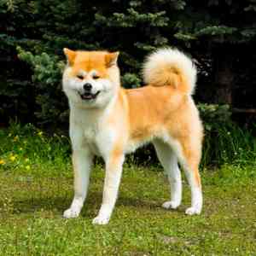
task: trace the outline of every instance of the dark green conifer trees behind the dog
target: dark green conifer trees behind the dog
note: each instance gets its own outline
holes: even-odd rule
[[[231,113],[255,120],[255,41],[255,0],[0,0],[0,123],[67,125],[64,47],[119,50],[131,88],[145,55],[169,45],[198,67],[195,101],[214,143]]]

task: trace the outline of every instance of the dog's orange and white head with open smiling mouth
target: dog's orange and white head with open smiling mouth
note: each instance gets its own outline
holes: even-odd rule
[[[64,49],[63,90],[80,108],[104,108],[119,88],[119,53]]]

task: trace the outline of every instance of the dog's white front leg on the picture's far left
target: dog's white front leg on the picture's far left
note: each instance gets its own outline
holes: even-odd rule
[[[67,209],[64,218],[76,218],[84,205],[90,180],[92,155],[86,148],[73,150],[74,197],[71,207]]]

